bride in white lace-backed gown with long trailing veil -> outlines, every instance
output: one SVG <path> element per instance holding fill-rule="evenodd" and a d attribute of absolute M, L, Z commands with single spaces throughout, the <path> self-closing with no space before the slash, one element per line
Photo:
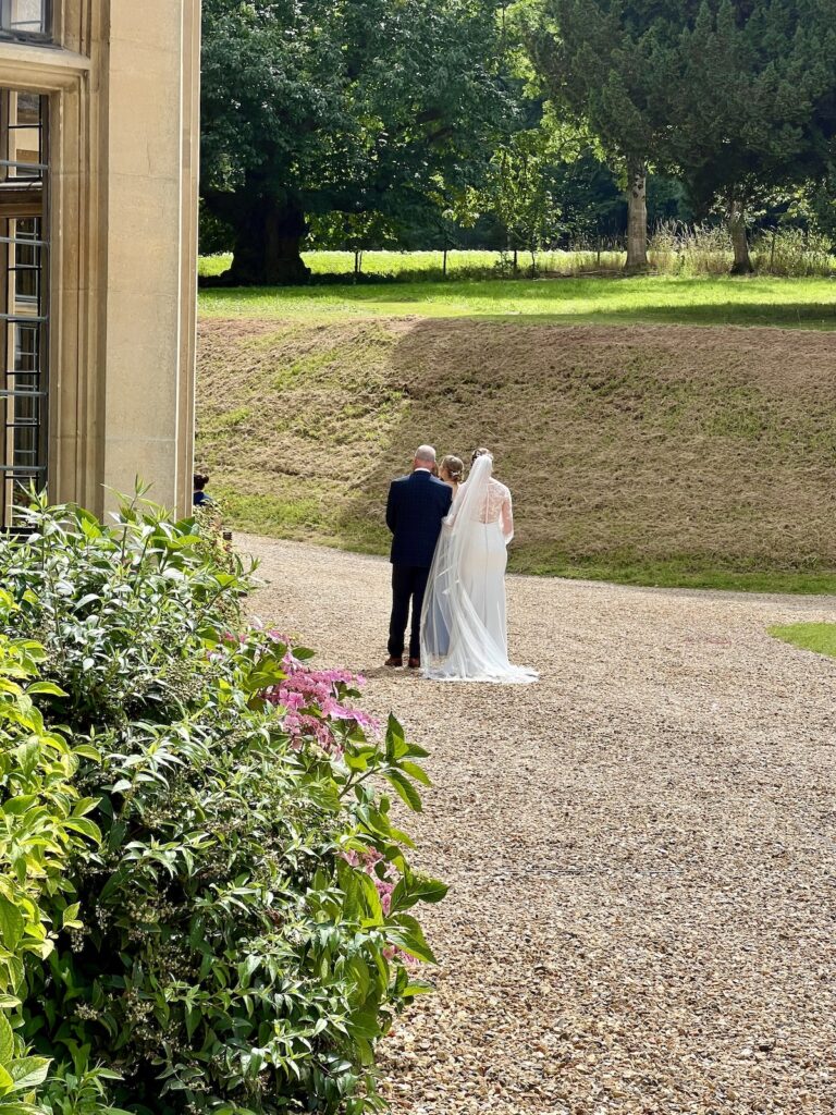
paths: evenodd
<path fill-rule="evenodd" d="M 421 614 L 424 676 L 436 681 L 536 681 L 508 662 L 505 619 L 506 546 L 514 536 L 511 492 L 494 479 L 487 449 L 441 526 Z"/>

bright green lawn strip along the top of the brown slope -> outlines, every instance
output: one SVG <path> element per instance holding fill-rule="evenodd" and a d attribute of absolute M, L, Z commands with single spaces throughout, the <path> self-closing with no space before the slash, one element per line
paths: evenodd
<path fill-rule="evenodd" d="M 836 328 L 836 280 L 582 277 L 206 289 L 203 318 L 294 322 L 495 318 L 584 324 Z"/>

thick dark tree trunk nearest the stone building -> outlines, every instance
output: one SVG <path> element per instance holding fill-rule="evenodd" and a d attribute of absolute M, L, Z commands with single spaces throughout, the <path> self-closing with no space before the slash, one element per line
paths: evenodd
<path fill-rule="evenodd" d="M 221 284 L 281 287 L 308 282 L 311 271 L 300 254 L 308 227 L 299 205 L 245 194 L 215 195 L 207 203 L 235 233 L 232 266 L 220 277 Z"/>

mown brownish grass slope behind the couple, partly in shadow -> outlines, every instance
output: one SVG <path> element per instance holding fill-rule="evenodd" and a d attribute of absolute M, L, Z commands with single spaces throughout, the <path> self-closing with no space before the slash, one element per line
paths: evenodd
<path fill-rule="evenodd" d="M 206 318 L 198 462 L 240 527 L 383 553 L 415 446 L 485 444 L 518 571 L 835 591 L 834 356 L 804 330 Z"/>

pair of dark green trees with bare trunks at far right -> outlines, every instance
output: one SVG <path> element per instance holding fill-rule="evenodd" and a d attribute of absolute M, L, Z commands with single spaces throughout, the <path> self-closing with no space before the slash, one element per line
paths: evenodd
<path fill-rule="evenodd" d="M 648 163 L 698 210 L 723 207 L 740 271 L 754 201 L 827 173 L 830 0 L 539 0 L 527 14 L 544 87 L 626 169 L 636 241 Z"/>

